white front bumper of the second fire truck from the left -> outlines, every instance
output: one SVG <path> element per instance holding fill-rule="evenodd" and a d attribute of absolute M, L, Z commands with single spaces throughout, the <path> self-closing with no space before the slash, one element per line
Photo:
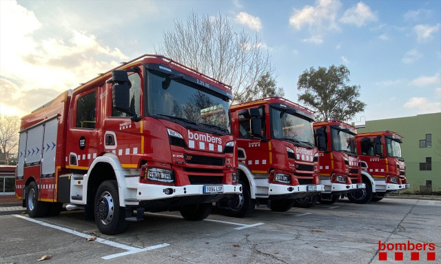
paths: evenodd
<path fill-rule="evenodd" d="M 282 185 L 269 183 L 268 199 L 295 199 L 307 196 L 314 196 L 323 192 L 323 185 Z"/>

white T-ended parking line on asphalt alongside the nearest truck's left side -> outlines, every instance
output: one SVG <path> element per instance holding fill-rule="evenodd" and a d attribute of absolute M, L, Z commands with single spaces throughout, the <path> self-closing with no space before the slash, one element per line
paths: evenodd
<path fill-rule="evenodd" d="M 45 223 L 43 221 L 39 221 L 39 220 L 36 220 L 36 219 L 30 219 L 29 217 L 21 216 L 19 214 L 14 214 L 14 216 L 19 217 L 19 218 L 24 219 L 24 220 L 27 220 L 27 221 L 38 223 L 39 225 L 44 225 L 46 227 L 52 227 L 54 229 L 61 230 L 63 232 L 68 232 L 70 234 L 74 234 L 75 236 L 81 236 L 83 238 L 90 238 L 91 237 L 88 234 L 83 234 L 81 232 L 78 232 L 78 231 L 75 231 L 75 230 L 71 230 L 71 229 L 66 228 L 66 227 L 61 227 L 61 226 L 58 226 L 58 225 L 52 225 L 50 223 Z M 99 237 L 96 238 L 95 241 L 98 242 L 98 243 L 103 243 L 105 245 L 110 245 L 112 247 L 121 248 L 121 250 L 127 250 L 127 252 L 122 252 L 122 253 L 118 253 L 118 254 L 112 254 L 112 255 L 109 255 L 109 256 L 101 257 L 103 259 L 117 258 L 119 256 L 126 256 L 126 255 L 129 255 L 129 254 L 135 254 L 135 253 L 145 252 L 145 251 L 149 251 L 149 250 L 156 250 L 156 248 L 167 247 L 168 245 L 170 245 L 170 244 L 167 244 L 167 243 L 163 243 L 163 244 L 159 244 L 159 245 L 153 245 L 151 247 L 138 248 L 138 247 L 130 247 L 130 245 L 123 245 L 123 244 L 120 244 L 120 243 L 116 243 L 114 241 L 108 241 L 108 240 L 105 240 L 105 239 L 99 238 Z"/>

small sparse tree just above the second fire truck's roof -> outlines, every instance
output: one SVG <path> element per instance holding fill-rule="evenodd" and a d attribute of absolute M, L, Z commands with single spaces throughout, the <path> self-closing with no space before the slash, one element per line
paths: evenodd
<path fill-rule="evenodd" d="M 257 84 L 254 87 L 247 88 L 242 99 L 242 97 L 238 97 L 236 101 L 250 101 L 256 100 L 265 97 L 283 97 L 285 96 L 285 92 L 283 88 L 278 88 L 276 84 L 276 80 L 271 77 L 269 72 L 260 76 L 257 81 Z"/>

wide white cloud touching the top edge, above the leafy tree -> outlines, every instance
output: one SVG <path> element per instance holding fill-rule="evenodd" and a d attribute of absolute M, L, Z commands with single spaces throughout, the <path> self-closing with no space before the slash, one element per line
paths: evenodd
<path fill-rule="evenodd" d="M 341 7 L 338 0 L 317 0 L 316 6 L 305 6 L 301 10 L 294 9 L 294 14 L 289 17 L 289 25 L 302 29 L 303 26 L 309 25 L 309 28 L 337 28 L 336 23 L 337 12 Z"/>

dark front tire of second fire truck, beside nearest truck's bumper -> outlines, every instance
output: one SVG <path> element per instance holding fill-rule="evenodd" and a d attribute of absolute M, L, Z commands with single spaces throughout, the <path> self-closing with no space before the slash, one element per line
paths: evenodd
<path fill-rule="evenodd" d="M 239 181 L 242 185 L 242 194 L 234 196 L 232 199 L 232 208 L 227 211 L 228 216 L 245 217 L 249 215 L 256 207 L 256 201 L 251 199 L 248 181 Z"/>

